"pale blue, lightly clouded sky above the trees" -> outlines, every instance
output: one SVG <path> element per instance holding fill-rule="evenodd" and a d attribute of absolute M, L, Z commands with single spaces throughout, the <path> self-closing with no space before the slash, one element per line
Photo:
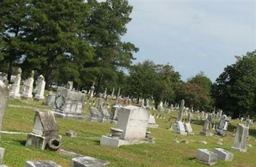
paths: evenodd
<path fill-rule="evenodd" d="M 204 71 L 214 82 L 236 62 L 235 55 L 256 50 L 256 0 L 129 0 L 129 4 L 132 20 L 122 40 L 140 48 L 134 63 L 169 62 L 182 80 Z"/>

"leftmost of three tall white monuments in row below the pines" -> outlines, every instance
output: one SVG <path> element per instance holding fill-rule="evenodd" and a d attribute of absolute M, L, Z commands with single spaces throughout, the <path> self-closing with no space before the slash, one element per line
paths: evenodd
<path fill-rule="evenodd" d="M 16 75 L 15 81 L 12 85 L 12 89 L 10 91 L 10 98 L 19 99 L 20 98 L 20 80 L 21 80 L 21 68 L 18 69 L 18 74 Z"/>

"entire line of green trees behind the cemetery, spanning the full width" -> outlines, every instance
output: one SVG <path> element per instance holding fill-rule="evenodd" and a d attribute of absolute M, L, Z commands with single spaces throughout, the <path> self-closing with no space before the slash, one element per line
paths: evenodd
<path fill-rule="evenodd" d="M 122 41 L 131 21 L 132 6 L 127 0 L 0 2 L 0 71 L 8 80 L 22 68 L 22 77 L 31 70 L 50 83 L 71 80 L 77 89 L 149 98 L 169 104 L 186 101 L 195 110 L 212 112 L 214 106 L 232 117 L 255 115 L 256 55 L 237 57 L 212 83 L 203 72 L 180 79 L 170 64 L 134 61 L 134 44 Z"/>

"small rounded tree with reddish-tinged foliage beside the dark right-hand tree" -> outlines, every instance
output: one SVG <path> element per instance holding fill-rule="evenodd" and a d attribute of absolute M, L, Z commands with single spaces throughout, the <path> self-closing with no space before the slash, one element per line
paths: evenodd
<path fill-rule="evenodd" d="M 189 107 L 209 111 L 212 109 L 211 87 L 211 80 L 200 72 L 179 85 L 177 99 L 184 99 Z"/>

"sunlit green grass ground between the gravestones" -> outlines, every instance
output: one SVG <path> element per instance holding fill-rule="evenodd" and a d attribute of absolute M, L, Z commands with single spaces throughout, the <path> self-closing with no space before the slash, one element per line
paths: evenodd
<path fill-rule="evenodd" d="M 84 115 L 87 114 L 88 107 L 89 104 L 87 103 L 84 107 Z M 39 101 L 10 99 L 4 112 L 2 131 L 31 132 L 36 108 L 42 111 L 51 109 Z M 170 113 L 170 115 L 172 115 L 174 122 L 177 112 Z M 216 147 L 234 153 L 234 160 L 232 162 L 218 161 L 214 166 L 256 166 L 256 128 L 254 125 L 250 126 L 250 138 L 247 141 L 247 144 L 251 144 L 252 147 L 248 147 L 247 152 L 239 152 L 230 148 L 234 143 L 234 136 L 231 134 L 238 120 L 230 121 L 231 125 L 228 127 L 227 137 L 200 136 L 203 122 L 197 120 L 191 124 L 195 136 L 182 136 L 170 131 L 170 122 L 167 122 L 170 115 L 167 116 L 166 114 L 165 119 L 156 119 L 157 124 L 159 124 L 157 129 L 148 128 L 156 143 L 126 145 L 119 149 L 99 145 L 100 137 L 110 133 L 109 128 L 115 127 L 115 124 L 84 120 L 56 120 L 62 136 L 62 149 L 109 161 L 108 166 L 206 166 L 196 161 L 196 149 L 214 150 Z M 194 118 L 196 118 L 196 114 Z M 77 138 L 65 136 L 64 134 L 68 130 L 76 131 Z M 189 143 L 174 143 L 172 141 L 175 136 L 178 137 L 179 141 L 188 140 Z M 0 147 L 5 149 L 4 164 L 7 166 L 24 166 L 25 161 L 28 160 L 51 160 L 61 166 L 70 166 L 72 157 L 50 150 L 26 148 L 24 146 L 26 138 L 26 134 L 1 134 Z M 223 139 L 223 145 L 217 144 L 220 138 Z M 202 140 L 205 140 L 207 144 L 200 143 Z"/>

